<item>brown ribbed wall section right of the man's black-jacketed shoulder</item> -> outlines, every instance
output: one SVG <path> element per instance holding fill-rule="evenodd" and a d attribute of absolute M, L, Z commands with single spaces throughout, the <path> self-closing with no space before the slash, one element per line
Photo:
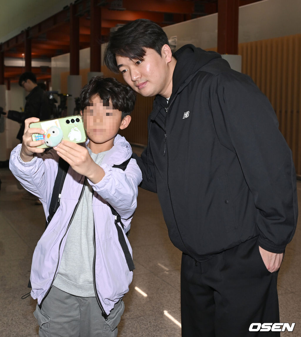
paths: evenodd
<path fill-rule="evenodd" d="M 301 34 L 240 43 L 242 72 L 270 100 L 301 175 Z"/>

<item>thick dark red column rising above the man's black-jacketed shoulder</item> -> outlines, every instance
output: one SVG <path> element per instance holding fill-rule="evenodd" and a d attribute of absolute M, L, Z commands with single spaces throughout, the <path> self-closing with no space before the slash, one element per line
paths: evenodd
<path fill-rule="evenodd" d="M 218 0 L 218 53 L 238 54 L 239 0 Z"/>

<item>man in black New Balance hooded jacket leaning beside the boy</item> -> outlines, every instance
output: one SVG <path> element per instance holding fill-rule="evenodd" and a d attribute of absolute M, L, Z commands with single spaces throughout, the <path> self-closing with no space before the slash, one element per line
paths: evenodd
<path fill-rule="evenodd" d="M 111 35 L 105 64 L 156 95 L 136 160 L 183 252 L 182 336 L 256 336 L 252 323 L 279 322 L 277 275 L 298 204 L 268 99 L 218 53 L 185 45 L 172 55 L 164 31 L 144 19 Z"/>

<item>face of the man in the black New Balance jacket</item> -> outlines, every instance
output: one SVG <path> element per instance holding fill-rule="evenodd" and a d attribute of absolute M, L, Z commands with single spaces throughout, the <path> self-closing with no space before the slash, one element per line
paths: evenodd
<path fill-rule="evenodd" d="M 142 96 L 170 97 L 172 75 L 168 68 L 168 58 L 162 47 L 162 56 L 154 49 L 145 48 L 145 56 L 142 61 L 129 59 L 125 56 L 116 55 L 116 62 L 123 74 L 126 83 Z M 170 93 L 169 93 L 170 91 Z"/>

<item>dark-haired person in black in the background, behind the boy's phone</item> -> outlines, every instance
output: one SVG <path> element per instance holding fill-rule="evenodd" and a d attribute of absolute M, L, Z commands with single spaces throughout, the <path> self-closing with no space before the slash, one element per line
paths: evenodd
<path fill-rule="evenodd" d="M 7 118 L 21 123 L 20 130 L 16 138 L 22 142 L 25 123 L 24 121 L 30 117 L 37 117 L 40 120 L 50 118 L 50 109 L 48 98 L 45 91 L 37 85 L 37 79 L 31 71 L 24 72 L 19 79 L 19 85 L 29 94 L 26 96 L 24 112 L 9 110 Z"/>

